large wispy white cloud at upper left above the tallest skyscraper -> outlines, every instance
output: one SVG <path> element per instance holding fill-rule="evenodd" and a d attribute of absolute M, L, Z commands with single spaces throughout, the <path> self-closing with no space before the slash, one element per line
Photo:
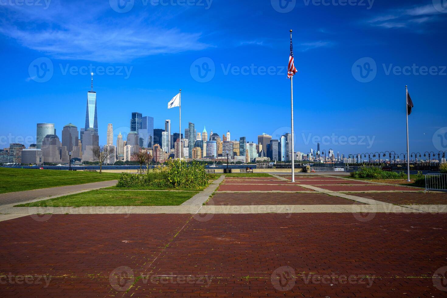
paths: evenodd
<path fill-rule="evenodd" d="M 4 10 L 0 34 L 56 59 L 120 63 L 210 46 L 200 41 L 201 32 L 165 28 L 135 14 L 107 18 L 101 15 L 107 12 L 103 7 L 84 10 L 56 3 L 46 10 L 25 6 Z"/>

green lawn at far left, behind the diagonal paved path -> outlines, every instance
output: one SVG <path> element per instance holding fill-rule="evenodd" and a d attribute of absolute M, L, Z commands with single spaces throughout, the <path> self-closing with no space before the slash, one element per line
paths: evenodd
<path fill-rule="evenodd" d="M 0 193 L 118 179 L 120 173 L 0 168 Z"/>

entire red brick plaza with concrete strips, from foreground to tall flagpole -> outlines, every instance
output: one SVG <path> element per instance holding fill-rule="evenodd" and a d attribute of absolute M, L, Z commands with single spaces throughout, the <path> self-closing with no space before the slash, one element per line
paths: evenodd
<path fill-rule="evenodd" d="M 178 206 L 191 210 L 183 214 L 53 210 L 5 220 L 0 294 L 447 296 L 447 214 L 439 211 L 446 193 L 332 175 L 297 177 L 295 184 L 287 179 L 225 178 L 205 206 Z M 222 214 L 211 208 L 244 205 L 316 209 Z M 354 206 L 370 209 L 330 211 Z M 432 206 L 438 211 L 418 210 Z M 4 208 L 20 213 L 25 207 Z"/>

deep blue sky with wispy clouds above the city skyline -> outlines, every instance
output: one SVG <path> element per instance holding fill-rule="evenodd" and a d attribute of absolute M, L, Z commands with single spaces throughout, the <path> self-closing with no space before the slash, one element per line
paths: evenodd
<path fill-rule="evenodd" d="M 447 150 L 440 1 L 33 1 L 0 5 L 0 147 L 34 142 L 38 122 L 59 137 L 69 122 L 84 127 L 91 70 L 101 144 L 108 123 L 116 138 L 135 111 L 177 132 L 166 106 L 179 88 L 182 130 L 277 137 L 291 126 L 293 29 L 295 151 L 404 152 L 405 85 L 410 150 Z"/>

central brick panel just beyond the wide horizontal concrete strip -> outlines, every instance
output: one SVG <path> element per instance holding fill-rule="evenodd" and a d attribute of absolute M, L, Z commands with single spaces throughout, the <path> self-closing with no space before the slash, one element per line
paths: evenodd
<path fill-rule="evenodd" d="M 216 193 L 207 205 L 351 205 L 362 204 L 325 193 Z"/>

